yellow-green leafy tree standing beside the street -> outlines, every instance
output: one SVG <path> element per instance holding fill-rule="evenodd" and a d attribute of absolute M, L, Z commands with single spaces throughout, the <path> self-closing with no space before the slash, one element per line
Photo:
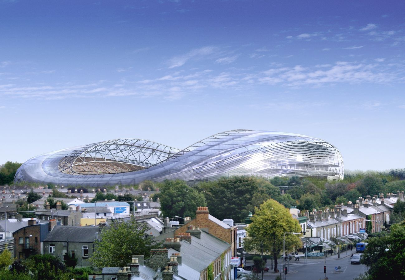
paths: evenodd
<path fill-rule="evenodd" d="M 278 272 L 277 259 L 283 249 L 284 233 L 301 232 L 301 227 L 287 208 L 269 199 L 256 209 L 246 231 L 248 237 L 245 239 L 245 248 L 260 251 L 263 246 L 265 252 L 273 255 L 274 271 Z M 294 234 L 286 234 L 285 241 L 286 252 L 294 246 L 302 245 L 300 238 Z"/>

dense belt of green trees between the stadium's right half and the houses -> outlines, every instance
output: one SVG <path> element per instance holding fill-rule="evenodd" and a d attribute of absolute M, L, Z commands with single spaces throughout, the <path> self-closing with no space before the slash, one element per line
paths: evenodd
<path fill-rule="evenodd" d="M 160 197 L 164 216 L 194 217 L 196 207 L 208 206 L 210 214 L 216 218 L 232 218 L 238 223 L 269 198 L 286 208 L 296 206 L 300 210 L 312 210 L 333 208 L 348 201 L 355 203 L 360 196 L 365 198 L 367 195 L 405 191 L 405 180 L 398 175 L 402 174 L 401 170 L 396 172 L 356 172 L 339 181 L 314 177 L 266 180 L 235 176 L 188 186 L 181 180 L 166 180 L 155 184 L 160 193 L 155 194 L 153 199 Z M 283 195 L 280 193 L 281 186 L 288 186 Z"/>

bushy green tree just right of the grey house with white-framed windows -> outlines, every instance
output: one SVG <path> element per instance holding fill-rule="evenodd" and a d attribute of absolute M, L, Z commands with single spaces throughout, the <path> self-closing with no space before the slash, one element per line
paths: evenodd
<path fill-rule="evenodd" d="M 128 222 L 113 221 L 96 240 L 90 262 L 95 267 L 124 267 L 132 255 L 149 257 L 149 251 L 160 244 L 145 234 L 148 230 L 147 224 L 137 223 L 133 216 Z"/>

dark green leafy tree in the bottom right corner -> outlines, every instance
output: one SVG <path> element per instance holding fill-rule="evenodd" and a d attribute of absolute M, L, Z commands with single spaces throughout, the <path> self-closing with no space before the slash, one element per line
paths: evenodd
<path fill-rule="evenodd" d="M 405 279 L 405 223 L 390 229 L 386 236 L 369 238 L 362 254 L 361 262 L 370 266 L 370 280 Z"/>

